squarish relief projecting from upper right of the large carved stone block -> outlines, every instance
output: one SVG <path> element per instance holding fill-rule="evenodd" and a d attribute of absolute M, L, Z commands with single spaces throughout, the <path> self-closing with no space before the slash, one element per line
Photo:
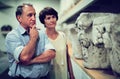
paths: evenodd
<path fill-rule="evenodd" d="M 93 21 L 92 41 L 94 45 L 103 45 L 104 48 L 111 48 L 110 27 L 113 27 L 113 17 L 102 16 Z"/>

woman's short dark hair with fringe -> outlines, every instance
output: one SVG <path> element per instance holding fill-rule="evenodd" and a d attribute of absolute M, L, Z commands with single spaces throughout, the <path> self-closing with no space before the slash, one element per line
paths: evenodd
<path fill-rule="evenodd" d="M 42 24 L 44 24 L 44 19 L 45 19 L 46 15 L 55 15 L 55 17 L 58 20 L 58 13 L 57 13 L 57 11 L 55 9 L 53 9 L 52 7 L 45 7 L 39 13 L 39 20 L 40 20 L 40 22 Z"/>

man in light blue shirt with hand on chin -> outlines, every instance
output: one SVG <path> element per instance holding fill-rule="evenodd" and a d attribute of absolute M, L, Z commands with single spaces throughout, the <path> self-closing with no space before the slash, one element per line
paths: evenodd
<path fill-rule="evenodd" d="M 31 4 L 17 7 L 19 26 L 8 33 L 6 49 L 11 79 L 47 79 L 55 49 L 42 30 L 37 30 L 35 9 Z"/>

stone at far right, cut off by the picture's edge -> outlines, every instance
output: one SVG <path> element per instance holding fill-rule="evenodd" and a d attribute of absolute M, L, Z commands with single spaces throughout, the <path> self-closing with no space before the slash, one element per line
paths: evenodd
<path fill-rule="evenodd" d="M 115 75 L 120 78 L 120 14 L 116 15 L 111 30 L 112 51 L 110 53 L 110 63 Z"/>

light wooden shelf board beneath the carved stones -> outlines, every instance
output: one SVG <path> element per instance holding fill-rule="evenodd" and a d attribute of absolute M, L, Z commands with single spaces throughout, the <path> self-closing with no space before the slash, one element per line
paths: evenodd
<path fill-rule="evenodd" d="M 83 66 L 83 60 L 74 58 L 72 53 L 72 48 L 70 49 L 69 55 L 80 66 L 80 68 L 83 69 L 91 77 L 91 79 L 116 79 L 116 77 L 113 74 L 111 74 L 111 71 L 109 72 L 102 69 L 96 70 L 96 69 L 85 68 Z"/>

